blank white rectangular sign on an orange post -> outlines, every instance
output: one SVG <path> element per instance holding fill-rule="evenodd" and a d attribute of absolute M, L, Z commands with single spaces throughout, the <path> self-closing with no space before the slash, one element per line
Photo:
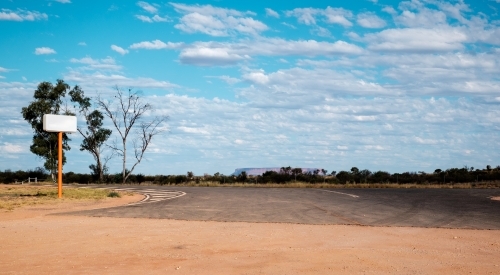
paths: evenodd
<path fill-rule="evenodd" d="M 57 197 L 62 198 L 62 133 L 76 132 L 76 116 L 43 115 L 43 130 L 58 133 Z"/>

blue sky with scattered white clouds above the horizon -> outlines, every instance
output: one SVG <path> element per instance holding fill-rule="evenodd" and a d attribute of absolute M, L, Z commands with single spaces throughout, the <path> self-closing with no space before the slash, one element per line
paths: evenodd
<path fill-rule="evenodd" d="M 42 166 L 20 111 L 56 79 L 89 96 L 133 88 L 155 108 L 146 119 L 170 117 L 137 173 L 500 165 L 499 10 L 500 0 L 3 0 L 0 169 Z M 73 134 L 65 171 L 89 171 L 80 142 Z M 109 165 L 119 172 L 118 158 Z"/>

